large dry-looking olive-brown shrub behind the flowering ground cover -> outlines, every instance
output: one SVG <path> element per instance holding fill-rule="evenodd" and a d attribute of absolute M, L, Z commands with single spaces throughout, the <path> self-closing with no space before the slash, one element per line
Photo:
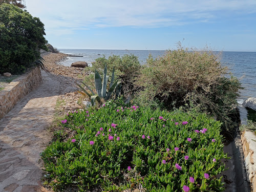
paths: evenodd
<path fill-rule="evenodd" d="M 143 90 L 136 98 L 141 105 L 158 100 L 168 110 L 188 106 L 223 122 L 223 131 L 236 127 L 231 116 L 236 113 L 241 83 L 226 75 L 227 68 L 214 52 L 189 51 L 180 46 L 160 58 L 150 56 L 141 73 L 137 85 Z"/>

